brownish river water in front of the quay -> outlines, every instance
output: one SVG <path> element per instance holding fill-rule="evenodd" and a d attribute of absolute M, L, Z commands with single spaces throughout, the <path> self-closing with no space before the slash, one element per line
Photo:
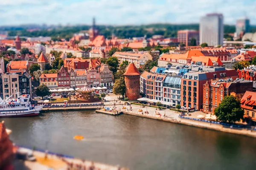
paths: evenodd
<path fill-rule="evenodd" d="M 16 144 L 131 170 L 255 170 L 256 139 L 131 115 L 51 112 L 1 118 Z M 84 140 L 76 141 L 76 135 Z"/>

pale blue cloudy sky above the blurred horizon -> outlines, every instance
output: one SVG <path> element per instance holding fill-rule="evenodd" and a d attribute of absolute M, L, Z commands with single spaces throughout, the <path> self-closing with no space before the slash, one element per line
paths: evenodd
<path fill-rule="evenodd" d="M 198 23 L 206 13 L 256 25 L 256 0 L 0 0 L 0 25 Z"/>

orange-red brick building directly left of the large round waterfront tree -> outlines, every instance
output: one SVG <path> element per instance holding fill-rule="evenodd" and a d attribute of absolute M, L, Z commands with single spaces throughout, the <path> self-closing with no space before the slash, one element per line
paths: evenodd
<path fill-rule="evenodd" d="M 253 91 L 253 82 L 249 80 L 217 79 L 207 81 L 203 88 L 203 111 L 214 113 L 215 108 L 221 103 L 225 96 L 230 93 L 241 98 L 246 91 Z"/>

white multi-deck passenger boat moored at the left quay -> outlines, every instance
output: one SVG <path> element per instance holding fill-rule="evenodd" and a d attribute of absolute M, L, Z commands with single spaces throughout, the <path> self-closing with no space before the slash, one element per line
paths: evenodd
<path fill-rule="evenodd" d="M 20 95 L 17 89 L 15 91 L 17 99 L 12 99 L 12 96 L 6 99 L 0 97 L 0 117 L 37 116 L 44 105 L 31 105 L 29 94 Z"/>

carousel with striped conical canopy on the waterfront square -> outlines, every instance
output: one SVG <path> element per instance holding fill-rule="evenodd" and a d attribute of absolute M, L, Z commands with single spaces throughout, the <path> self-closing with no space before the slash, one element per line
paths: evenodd
<path fill-rule="evenodd" d="M 99 98 L 93 96 L 93 88 L 88 87 L 87 82 L 85 82 L 84 87 L 76 91 L 77 100 L 83 102 L 98 102 Z"/>

